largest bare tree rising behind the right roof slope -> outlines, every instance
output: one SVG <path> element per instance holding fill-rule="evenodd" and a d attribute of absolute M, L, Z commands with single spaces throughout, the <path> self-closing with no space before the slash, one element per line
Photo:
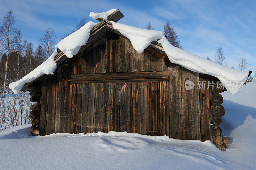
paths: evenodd
<path fill-rule="evenodd" d="M 173 26 L 169 22 L 166 22 L 164 24 L 164 35 L 173 46 L 176 46 L 180 49 L 183 48 L 180 45 L 180 40 L 177 33 L 174 31 Z"/>

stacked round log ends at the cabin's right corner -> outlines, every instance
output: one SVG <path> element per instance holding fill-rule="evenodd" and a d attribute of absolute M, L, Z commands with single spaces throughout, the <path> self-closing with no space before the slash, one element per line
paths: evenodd
<path fill-rule="evenodd" d="M 221 92 L 225 89 L 219 88 L 220 81 L 216 78 L 212 79 L 214 83 L 212 87 L 212 96 L 211 96 L 211 113 L 212 113 L 212 124 L 210 125 L 210 134 L 212 136 L 212 142 L 221 150 L 226 151 L 226 144 L 230 144 L 229 137 L 221 137 L 222 130 L 220 129 L 221 117 L 225 114 L 225 109 L 221 105 L 223 103 L 223 97 Z"/>

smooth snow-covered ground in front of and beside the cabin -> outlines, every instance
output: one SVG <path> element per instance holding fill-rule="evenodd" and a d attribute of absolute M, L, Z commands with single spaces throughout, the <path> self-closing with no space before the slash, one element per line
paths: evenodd
<path fill-rule="evenodd" d="M 1 169 L 256 169 L 256 82 L 222 93 L 227 151 L 210 141 L 126 132 L 32 137 L 30 126 L 0 131 Z"/>

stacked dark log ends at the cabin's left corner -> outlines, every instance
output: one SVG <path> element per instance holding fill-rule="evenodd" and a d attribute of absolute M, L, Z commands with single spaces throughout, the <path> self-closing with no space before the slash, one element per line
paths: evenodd
<path fill-rule="evenodd" d="M 41 96 L 41 87 L 36 86 L 30 88 L 29 95 L 31 102 L 36 102 L 30 106 L 30 121 L 32 126 L 30 127 L 30 133 L 32 136 L 39 135 L 39 117 L 40 117 L 40 110 L 41 110 L 41 103 L 40 103 L 40 96 Z"/>

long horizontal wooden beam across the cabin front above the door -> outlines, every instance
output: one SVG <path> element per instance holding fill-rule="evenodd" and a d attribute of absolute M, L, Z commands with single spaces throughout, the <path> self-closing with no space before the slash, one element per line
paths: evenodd
<path fill-rule="evenodd" d="M 124 72 L 104 74 L 72 74 L 70 83 L 82 82 L 132 82 L 132 81 L 162 81 L 169 77 L 168 71 L 154 72 Z"/>

